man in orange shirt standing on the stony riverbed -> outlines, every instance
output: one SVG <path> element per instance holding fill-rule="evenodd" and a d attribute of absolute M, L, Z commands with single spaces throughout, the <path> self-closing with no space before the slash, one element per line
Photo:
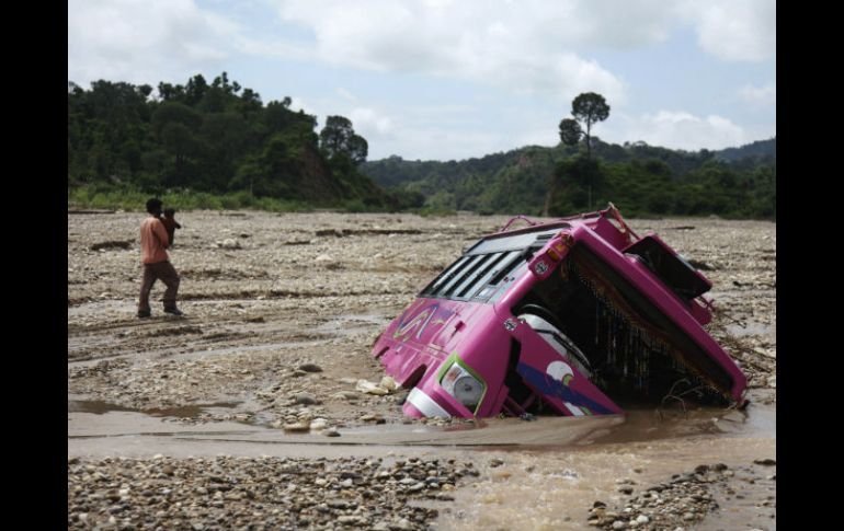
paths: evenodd
<path fill-rule="evenodd" d="M 182 315 L 175 307 L 175 293 L 179 291 L 179 274 L 170 263 L 166 249 L 170 246 L 161 217 L 161 200 L 147 201 L 149 217 L 140 223 L 140 261 L 144 263 L 144 279 L 140 282 L 140 302 L 138 302 L 138 318 L 151 315 L 149 309 L 149 292 L 156 280 L 161 279 L 167 286 L 164 291 L 164 313 Z"/>

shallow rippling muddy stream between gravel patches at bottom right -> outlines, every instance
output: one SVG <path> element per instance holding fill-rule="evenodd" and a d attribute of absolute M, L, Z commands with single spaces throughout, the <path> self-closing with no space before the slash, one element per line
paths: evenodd
<path fill-rule="evenodd" d="M 455 509 L 442 516 L 438 529 L 583 529 L 594 501 L 623 506 L 625 497 L 617 492 L 616 483 L 619 478 L 647 487 L 702 463 L 722 462 L 735 467 L 751 463 L 759 453 L 776 451 L 771 439 L 744 438 L 737 442 L 696 438 L 682 443 L 649 441 L 509 452 L 501 458 L 503 465 L 487 469 L 479 482 L 457 492 Z M 773 481 L 768 483 L 767 487 L 775 488 Z M 759 496 L 765 494 L 769 493 Z M 745 528 L 759 518 L 749 515 L 756 509 L 753 501 L 746 497 L 739 504 L 721 499 L 717 527 L 700 524 L 696 529 Z M 704 524 L 709 522 L 705 520 Z"/>

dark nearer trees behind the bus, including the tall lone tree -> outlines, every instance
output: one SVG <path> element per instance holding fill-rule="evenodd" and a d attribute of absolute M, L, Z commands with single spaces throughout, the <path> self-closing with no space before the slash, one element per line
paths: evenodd
<path fill-rule="evenodd" d="M 710 160 L 708 152 L 702 153 L 698 166 L 677 174 L 658 158 L 621 164 L 592 158 L 592 126 L 609 117 L 609 105 L 601 94 L 578 95 L 572 101 L 571 115 L 573 118 L 560 122 L 560 141 L 566 146 L 585 145 L 585 157 L 578 153 L 556 165 L 545 215 L 584 207 L 591 210 L 595 203 L 612 200 L 619 206 L 630 205 L 632 213 L 776 219 L 776 165 L 756 158 L 764 157 L 764 148 L 759 146 L 763 142 L 746 147 L 745 158 L 737 149 L 725 150 L 721 161 L 731 163 Z M 593 203 L 593 193 L 602 199 Z"/>

